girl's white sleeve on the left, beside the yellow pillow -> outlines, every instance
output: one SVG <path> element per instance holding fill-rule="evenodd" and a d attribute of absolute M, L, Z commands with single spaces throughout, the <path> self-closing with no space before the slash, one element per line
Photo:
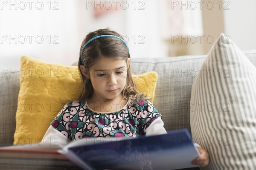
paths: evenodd
<path fill-rule="evenodd" d="M 42 142 L 49 144 L 51 146 L 59 146 L 63 148 L 70 141 L 64 134 L 62 134 L 60 131 L 58 131 L 52 125 L 50 125 L 42 139 Z"/>

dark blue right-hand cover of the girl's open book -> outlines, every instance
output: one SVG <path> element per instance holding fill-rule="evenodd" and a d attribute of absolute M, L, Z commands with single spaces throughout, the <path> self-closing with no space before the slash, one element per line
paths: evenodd
<path fill-rule="evenodd" d="M 81 139 L 61 150 L 83 169 L 172 170 L 197 167 L 200 156 L 187 129 L 137 138 Z"/>

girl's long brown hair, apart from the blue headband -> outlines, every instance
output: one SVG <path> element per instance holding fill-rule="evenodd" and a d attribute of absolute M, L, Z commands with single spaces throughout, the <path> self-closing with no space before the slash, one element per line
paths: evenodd
<path fill-rule="evenodd" d="M 79 69 L 79 74 L 80 74 L 81 82 L 83 86 L 82 86 L 81 95 L 79 96 L 79 99 L 77 99 L 79 100 L 79 102 L 86 101 L 90 99 L 93 95 L 93 86 L 90 82 L 90 79 L 88 79 L 87 77 L 84 76 L 84 74 L 82 74 L 80 65 L 83 65 L 86 68 L 86 71 L 89 71 L 91 66 L 98 59 L 100 59 L 100 57 L 107 57 L 111 59 L 124 59 L 125 62 L 127 62 L 128 58 L 130 58 L 129 51 L 127 50 L 127 47 L 124 42 L 114 37 L 102 37 L 102 38 L 95 39 L 86 45 L 86 47 L 84 48 L 84 51 L 82 52 L 83 62 L 81 62 L 80 56 L 81 56 L 81 50 L 84 44 L 88 40 L 92 39 L 93 37 L 96 37 L 99 35 L 106 35 L 106 34 L 114 35 L 122 38 L 122 36 L 117 32 L 111 31 L 109 28 L 105 28 L 105 29 L 99 29 L 99 30 L 90 32 L 89 34 L 87 34 L 87 36 L 84 38 L 81 44 L 78 69 Z M 139 93 L 139 91 L 136 88 L 134 79 L 131 74 L 131 67 L 127 69 L 126 85 L 122 91 L 122 94 L 124 96 L 124 99 L 126 100 L 128 100 L 128 97 L 130 95 L 137 96 L 137 99 L 139 99 L 144 95 L 143 93 Z"/>

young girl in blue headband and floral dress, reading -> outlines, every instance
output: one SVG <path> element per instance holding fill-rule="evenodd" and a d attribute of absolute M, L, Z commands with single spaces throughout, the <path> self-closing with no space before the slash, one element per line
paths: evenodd
<path fill-rule="evenodd" d="M 90 32 L 80 48 L 78 63 L 82 93 L 67 102 L 51 122 L 44 139 L 58 137 L 58 144 L 86 137 L 141 136 L 166 133 L 162 116 L 134 83 L 130 54 L 121 35 L 109 28 Z M 192 164 L 205 166 L 201 153 Z"/>

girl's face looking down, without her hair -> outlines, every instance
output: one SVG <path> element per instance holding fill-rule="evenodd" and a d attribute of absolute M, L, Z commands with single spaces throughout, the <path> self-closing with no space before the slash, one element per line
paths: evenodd
<path fill-rule="evenodd" d="M 125 62 L 123 59 L 116 60 L 101 57 L 90 68 L 89 75 L 85 75 L 90 77 L 93 85 L 92 99 L 98 102 L 108 102 L 122 97 L 129 65 L 130 59 Z"/>

